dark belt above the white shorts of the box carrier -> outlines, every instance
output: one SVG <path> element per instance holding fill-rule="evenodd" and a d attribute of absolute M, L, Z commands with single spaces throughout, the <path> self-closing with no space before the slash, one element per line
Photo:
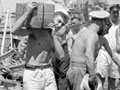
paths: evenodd
<path fill-rule="evenodd" d="M 47 69 L 47 68 L 50 68 L 51 65 L 50 64 L 47 64 L 47 65 L 39 65 L 39 66 L 36 66 L 36 65 L 30 65 L 30 64 L 25 64 L 25 68 L 26 69 Z"/>

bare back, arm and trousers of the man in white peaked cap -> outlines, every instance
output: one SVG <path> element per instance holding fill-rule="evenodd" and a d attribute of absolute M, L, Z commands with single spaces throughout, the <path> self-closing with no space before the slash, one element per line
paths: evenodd
<path fill-rule="evenodd" d="M 99 27 L 97 25 L 90 25 L 86 30 L 79 33 L 74 42 L 70 57 L 70 69 L 68 70 L 68 81 L 76 88 L 74 90 L 80 90 L 81 81 L 86 71 L 90 74 L 89 81 L 94 82 L 95 51 L 97 50 L 96 46 L 99 40 L 97 35 L 98 30 Z"/>

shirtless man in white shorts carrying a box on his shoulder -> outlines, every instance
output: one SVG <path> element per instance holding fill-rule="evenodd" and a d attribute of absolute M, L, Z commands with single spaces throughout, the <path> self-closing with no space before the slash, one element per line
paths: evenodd
<path fill-rule="evenodd" d="M 57 48 L 54 47 L 55 43 L 53 43 L 57 40 L 56 36 L 52 37 L 51 29 L 48 28 L 22 27 L 24 22 L 35 10 L 35 7 L 36 5 L 34 3 L 28 5 L 26 12 L 15 23 L 12 29 L 12 33 L 15 35 L 28 35 L 23 75 L 24 90 L 57 90 L 54 74 L 49 64 L 53 55 L 53 49 Z M 60 51 L 56 50 L 56 52 Z"/>

